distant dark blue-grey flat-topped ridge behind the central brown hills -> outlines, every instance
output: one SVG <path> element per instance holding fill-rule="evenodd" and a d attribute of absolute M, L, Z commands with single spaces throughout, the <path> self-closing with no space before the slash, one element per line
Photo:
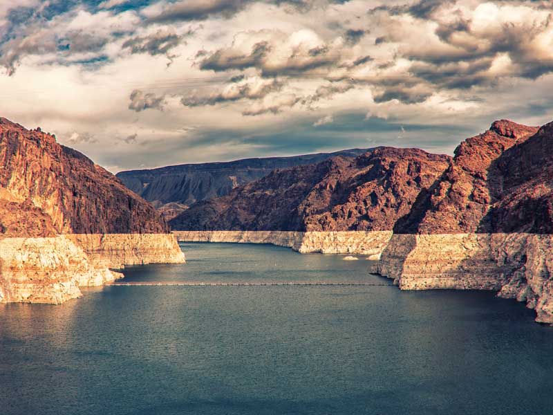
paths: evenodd
<path fill-rule="evenodd" d="M 153 203 L 169 220 L 197 201 L 225 196 L 234 187 L 256 181 L 274 169 L 319 163 L 333 156 L 357 156 L 364 151 L 366 149 L 349 149 L 303 156 L 176 165 L 120 172 L 117 176 L 129 189 Z"/>

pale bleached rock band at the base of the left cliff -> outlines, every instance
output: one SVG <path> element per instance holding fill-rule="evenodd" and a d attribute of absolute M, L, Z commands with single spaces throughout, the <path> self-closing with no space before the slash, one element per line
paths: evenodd
<path fill-rule="evenodd" d="M 79 287 L 122 278 L 114 269 L 135 264 L 180 264 L 171 234 L 66 234 L 0 239 L 0 302 L 62 304 Z"/>

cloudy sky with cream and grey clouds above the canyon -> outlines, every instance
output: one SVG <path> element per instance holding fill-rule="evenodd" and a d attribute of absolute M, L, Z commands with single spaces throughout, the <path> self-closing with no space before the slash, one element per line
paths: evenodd
<path fill-rule="evenodd" d="M 1 0 L 0 116 L 111 172 L 553 120 L 551 1 Z"/>

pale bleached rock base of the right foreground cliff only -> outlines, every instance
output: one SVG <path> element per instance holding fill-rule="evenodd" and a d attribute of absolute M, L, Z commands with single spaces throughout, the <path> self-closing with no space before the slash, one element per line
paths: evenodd
<path fill-rule="evenodd" d="M 553 323 L 553 235 L 395 234 L 377 273 L 403 290 L 493 290 Z"/>

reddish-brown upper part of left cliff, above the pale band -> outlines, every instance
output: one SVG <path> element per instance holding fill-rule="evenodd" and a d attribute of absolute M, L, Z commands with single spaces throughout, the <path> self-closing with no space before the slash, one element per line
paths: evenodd
<path fill-rule="evenodd" d="M 163 233 L 153 207 L 54 136 L 0 118 L 0 232 Z"/>

